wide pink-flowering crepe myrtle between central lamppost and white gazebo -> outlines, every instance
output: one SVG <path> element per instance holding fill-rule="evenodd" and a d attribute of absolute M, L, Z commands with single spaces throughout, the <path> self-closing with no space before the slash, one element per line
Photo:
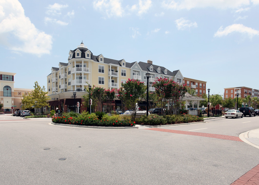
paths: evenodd
<path fill-rule="evenodd" d="M 179 114 L 182 98 L 187 92 L 185 85 L 179 85 L 177 82 L 168 78 L 156 78 L 153 83 L 155 87 L 155 93 L 158 97 L 158 102 L 162 108 L 162 114 L 166 114 L 166 104 L 169 106 L 169 114 Z"/>

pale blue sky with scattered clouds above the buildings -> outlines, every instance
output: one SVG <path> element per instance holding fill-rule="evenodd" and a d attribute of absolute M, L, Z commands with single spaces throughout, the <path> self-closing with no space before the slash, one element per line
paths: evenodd
<path fill-rule="evenodd" d="M 1 70 L 16 88 L 46 76 L 83 40 L 94 55 L 153 60 L 211 93 L 259 89 L 259 0 L 0 0 Z M 243 77 L 243 75 L 249 75 Z"/>

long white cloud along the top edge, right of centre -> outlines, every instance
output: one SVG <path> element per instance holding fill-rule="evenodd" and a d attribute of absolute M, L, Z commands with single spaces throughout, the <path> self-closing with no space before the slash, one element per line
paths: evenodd
<path fill-rule="evenodd" d="M 255 0 L 254 0 L 255 1 Z M 259 0 L 256 0 L 259 1 Z M 193 8 L 206 8 L 214 7 L 218 9 L 239 8 L 242 5 L 249 5 L 250 0 L 165 0 L 162 6 L 167 9 L 193 9 Z"/>

